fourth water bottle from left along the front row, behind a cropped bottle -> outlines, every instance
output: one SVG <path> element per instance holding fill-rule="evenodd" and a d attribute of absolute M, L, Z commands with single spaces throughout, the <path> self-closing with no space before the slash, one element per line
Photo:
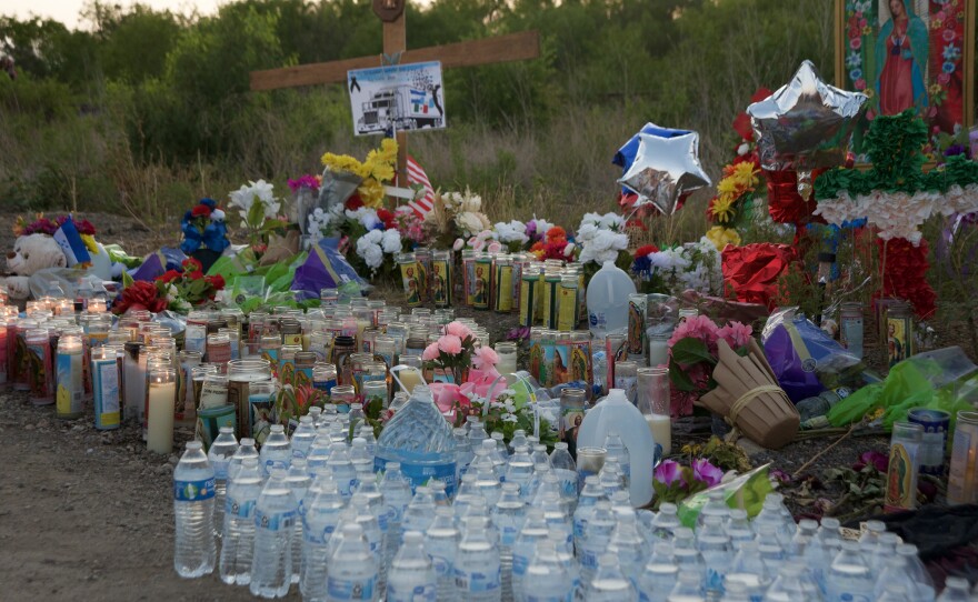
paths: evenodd
<path fill-rule="evenodd" d="M 329 543 L 347 505 L 330 474 L 317 479 L 319 493 L 306 510 L 299 590 L 306 602 L 326 600 Z"/>

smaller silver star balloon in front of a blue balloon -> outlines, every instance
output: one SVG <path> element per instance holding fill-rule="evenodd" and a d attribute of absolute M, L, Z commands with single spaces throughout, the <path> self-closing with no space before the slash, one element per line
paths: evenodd
<path fill-rule="evenodd" d="M 661 138 L 640 133 L 635 161 L 618 182 L 638 194 L 636 207 L 651 203 L 671 215 L 682 194 L 710 185 L 699 163 L 699 134 Z"/>

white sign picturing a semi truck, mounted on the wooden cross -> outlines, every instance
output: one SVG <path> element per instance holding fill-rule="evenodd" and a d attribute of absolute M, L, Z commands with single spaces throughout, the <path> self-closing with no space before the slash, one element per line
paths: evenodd
<path fill-rule="evenodd" d="M 357 136 L 445 129 L 440 61 L 350 70 L 347 89 Z"/>

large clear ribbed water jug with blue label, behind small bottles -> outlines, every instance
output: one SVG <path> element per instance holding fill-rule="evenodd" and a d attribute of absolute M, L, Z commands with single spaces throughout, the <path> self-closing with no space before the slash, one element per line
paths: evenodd
<path fill-rule="evenodd" d="M 400 462 L 411 491 L 438 479 L 445 483 L 449 498 L 455 494 L 455 439 L 427 385 L 415 387 L 411 399 L 380 433 L 375 471 L 382 471 L 387 462 Z"/>

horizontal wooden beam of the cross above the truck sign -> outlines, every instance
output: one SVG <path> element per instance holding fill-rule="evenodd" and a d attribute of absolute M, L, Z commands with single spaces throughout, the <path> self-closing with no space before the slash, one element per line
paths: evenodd
<path fill-rule="evenodd" d="M 408 50 L 401 54 L 400 63 L 441 61 L 441 67 L 448 69 L 536 59 L 539 56 L 540 33 L 538 31 L 522 31 L 482 40 Z M 379 56 L 372 56 L 252 71 L 251 90 L 277 90 L 279 88 L 337 83 L 347 80 L 347 71 L 380 67 L 379 62 Z"/>

